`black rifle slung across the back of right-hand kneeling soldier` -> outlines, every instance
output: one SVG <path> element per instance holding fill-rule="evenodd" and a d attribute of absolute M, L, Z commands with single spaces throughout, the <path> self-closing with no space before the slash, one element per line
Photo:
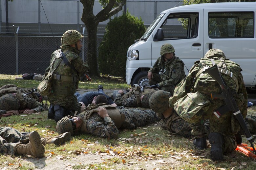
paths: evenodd
<path fill-rule="evenodd" d="M 250 131 L 248 130 L 248 128 L 245 124 L 245 120 L 241 114 L 241 111 L 239 110 L 239 108 L 236 104 L 236 101 L 232 95 L 232 92 L 230 91 L 229 87 L 224 83 L 223 78 L 219 72 L 217 65 L 215 64 L 214 66 L 205 69 L 205 72 L 208 73 L 210 76 L 212 76 L 212 78 L 214 78 L 217 81 L 217 83 L 221 86 L 221 89 L 222 89 L 222 93 L 221 93 L 222 98 L 221 99 L 223 99 L 225 101 L 225 103 L 226 103 L 225 106 L 229 109 L 229 111 L 233 111 L 233 115 L 236 117 L 240 126 L 244 130 L 246 139 L 250 142 L 251 147 L 253 148 L 253 150 L 256 154 L 256 150 L 254 148 L 254 145 L 252 144 L 254 142 L 255 137 L 253 138 L 252 135 L 250 134 Z M 212 94 L 211 94 L 211 97 L 213 99 Z"/>

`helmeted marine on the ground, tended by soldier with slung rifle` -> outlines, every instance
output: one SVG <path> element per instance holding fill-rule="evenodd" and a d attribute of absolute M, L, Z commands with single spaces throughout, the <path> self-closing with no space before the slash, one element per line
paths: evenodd
<path fill-rule="evenodd" d="M 157 117 L 161 119 L 161 127 L 169 130 L 174 135 L 180 135 L 185 138 L 190 137 L 191 128 L 188 122 L 183 120 L 176 111 L 169 107 L 170 92 L 163 90 L 156 91 L 149 98 L 150 108 L 156 112 Z M 204 123 L 204 129 L 209 134 L 209 121 Z M 204 134 L 198 133 L 197 137 L 202 137 Z"/>

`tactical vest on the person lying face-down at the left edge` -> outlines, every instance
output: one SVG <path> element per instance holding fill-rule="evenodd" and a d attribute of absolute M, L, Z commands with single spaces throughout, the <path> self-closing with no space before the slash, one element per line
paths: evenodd
<path fill-rule="evenodd" d="M 4 85 L 4 86 L 0 87 L 0 96 L 5 95 L 5 94 L 10 94 L 10 93 L 26 94 L 26 93 L 29 93 L 29 92 L 31 92 L 31 90 L 29 90 L 29 89 L 22 90 L 14 84 L 7 84 L 7 85 Z M 27 97 L 38 101 L 38 97 L 35 93 L 30 93 L 30 94 L 27 95 Z"/>

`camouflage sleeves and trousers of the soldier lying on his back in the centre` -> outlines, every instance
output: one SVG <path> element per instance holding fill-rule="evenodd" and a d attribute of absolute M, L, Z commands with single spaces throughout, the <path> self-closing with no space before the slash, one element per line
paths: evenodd
<path fill-rule="evenodd" d="M 120 128 L 134 129 L 144 126 L 147 123 L 151 123 L 159 120 L 156 117 L 155 112 L 152 110 L 139 110 L 139 109 L 125 109 L 123 107 L 117 108 L 120 114 L 125 116 L 125 121 Z M 84 118 L 84 115 L 81 115 Z M 84 120 L 86 122 L 86 120 Z M 86 126 L 86 127 L 84 127 Z M 87 129 L 91 134 L 105 138 L 116 138 L 118 135 L 118 129 L 110 117 L 101 118 L 97 112 L 92 113 L 88 118 L 86 125 L 82 124 L 82 127 L 77 133 L 86 133 L 82 129 Z"/>

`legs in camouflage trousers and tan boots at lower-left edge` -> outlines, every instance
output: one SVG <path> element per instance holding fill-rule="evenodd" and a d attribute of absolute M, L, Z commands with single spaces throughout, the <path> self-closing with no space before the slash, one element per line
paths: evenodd
<path fill-rule="evenodd" d="M 70 132 L 54 137 L 41 138 L 37 131 L 23 135 L 11 127 L 0 127 L 0 152 L 10 155 L 31 155 L 42 158 L 45 144 L 64 144 L 71 139 Z"/>

